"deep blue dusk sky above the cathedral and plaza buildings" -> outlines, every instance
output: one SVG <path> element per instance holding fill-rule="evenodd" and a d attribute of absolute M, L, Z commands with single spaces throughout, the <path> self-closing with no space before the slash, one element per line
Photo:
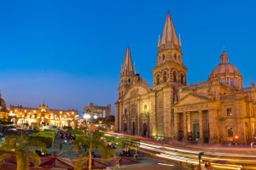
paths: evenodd
<path fill-rule="evenodd" d="M 225 46 L 244 87 L 256 81 L 256 1 L 23 0 L 0 2 L 0 90 L 7 105 L 78 109 L 117 100 L 125 48 L 152 85 L 170 10 L 188 82 L 207 81 Z M 112 107 L 114 108 L 114 107 Z M 112 111 L 114 112 L 114 111 Z"/>

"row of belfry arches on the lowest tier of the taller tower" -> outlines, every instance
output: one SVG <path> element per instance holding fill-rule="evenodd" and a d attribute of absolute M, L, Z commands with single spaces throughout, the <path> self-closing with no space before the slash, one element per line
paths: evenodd
<path fill-rule="evenodd" d="M 154 84 L 159 85 L 160 83 L 165 82 L 181 82 L 182 84 L 186 84 L 186 75 L 183 72 L 172 71 L 171 73 L 167 73 L 167 71 L 162 71 L 162 73 L 157 73 L 154 76 Z"/>

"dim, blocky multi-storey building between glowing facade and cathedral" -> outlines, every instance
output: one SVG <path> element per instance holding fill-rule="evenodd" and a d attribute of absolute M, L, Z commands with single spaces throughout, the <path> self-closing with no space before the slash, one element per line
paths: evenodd
<path fill-rule="evenodd" d="M 111 105 L 99 106 L 90 103 L 88 106 L 84 106 L 84 113 L 90 114 L 90 116 L 105 118 L 111 115 Z"/>

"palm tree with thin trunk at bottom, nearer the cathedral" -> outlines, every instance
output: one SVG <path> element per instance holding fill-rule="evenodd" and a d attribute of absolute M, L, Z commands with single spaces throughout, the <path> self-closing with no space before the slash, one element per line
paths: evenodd
<path fill-rule="evenodd" d="M 76 170 L 83 169 L 83 165 L 87 161 L 89 161 L 88 169 L 91 170 L 92 150 L 95 148 L 99 149 L 102 156 L 102 161 L 108 161 L 110 156 L 115 157 L 114 151 L 104 144 L 104 141 L 102 140 L 103 136 L 104 136 L 104 133 L 96 130 L 94 132 L 85 134 L 84 138 L 75 140 L 74 150 L 78 150 L 80 146 L 82 146 L 83 148 L 88 148 L 88 154 L 84 152 L 79 155 L 79 158 L 75 163 Z"/>

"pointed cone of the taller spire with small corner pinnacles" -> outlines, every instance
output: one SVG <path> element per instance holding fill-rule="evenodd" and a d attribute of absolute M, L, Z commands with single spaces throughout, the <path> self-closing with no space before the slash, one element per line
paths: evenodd
<path fill-rule="evenodd" d="M 166 15 L 166 22 L 162 37 L 159 37 L 158 48 L 181 48 L 181 38 L 179 36 L 177 39 L 175 27 L 170 13 Z"/>

